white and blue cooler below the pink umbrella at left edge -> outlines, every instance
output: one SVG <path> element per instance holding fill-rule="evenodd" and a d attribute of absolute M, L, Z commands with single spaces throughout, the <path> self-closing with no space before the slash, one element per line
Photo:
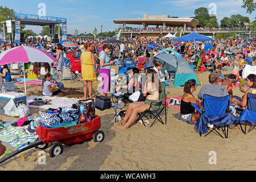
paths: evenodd
<path fill-rule="evenodd" d="M 24 93 L 6 92 L 0 94 L 0 115 L 5 115 L 3 107 L 11 100 L 14 100 L 16 107 L 22 104 L 27 105 L 27 96 Z"/>

